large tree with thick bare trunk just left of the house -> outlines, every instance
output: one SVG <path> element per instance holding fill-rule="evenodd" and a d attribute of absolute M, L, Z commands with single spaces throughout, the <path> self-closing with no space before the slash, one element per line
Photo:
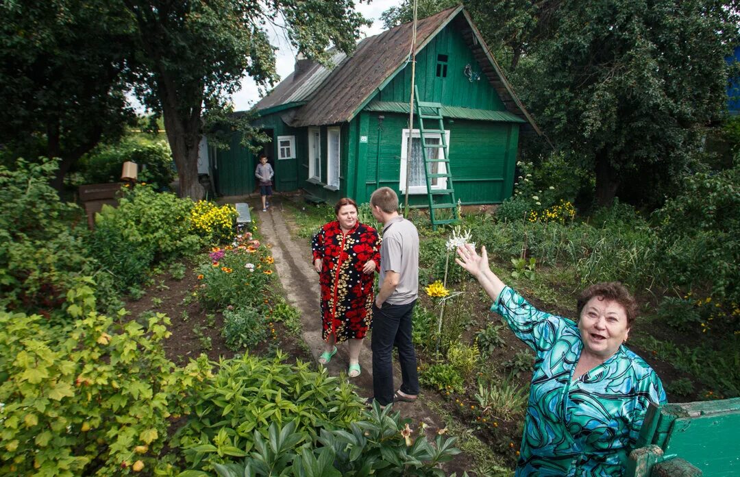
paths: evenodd
<path fill-rule="evenodd" d="M 203 117 L 223 113 L 244 75 L 265 88 L 277 81 L 268 28 L 309 58 L 328 60 L 327 47 L 349 52 L 366 23 L 351 0 L 122 1 L 136 26 L 136 93 L 164 117 L 180 194 L 192 199 L 203 196 Z"/>

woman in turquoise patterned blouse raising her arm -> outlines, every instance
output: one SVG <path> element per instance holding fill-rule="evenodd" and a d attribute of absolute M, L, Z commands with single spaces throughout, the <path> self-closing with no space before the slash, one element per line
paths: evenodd
<path fill-rule="evenodd" d="M 619 283 L 578 299 L 579 321 L 537 310 L 491 272 L 485 247 L 456 259 L 536 353 L 517 476 L 621 476 L 650 401 L 665 403 L 655 371 L 628 350 L 636 301 Z"/>

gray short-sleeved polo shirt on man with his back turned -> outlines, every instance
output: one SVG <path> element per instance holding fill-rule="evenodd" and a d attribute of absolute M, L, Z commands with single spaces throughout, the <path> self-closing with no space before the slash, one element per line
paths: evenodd
<path fill-rule="evenodd" d="M 419 233 L 411 221 L 397 216 L 383 227 L 380 246 L 380 287 L 386 272 L 398 273 L 396 290 L 388 297 L 388 304 L 408 304 L 419 296 Z"/>

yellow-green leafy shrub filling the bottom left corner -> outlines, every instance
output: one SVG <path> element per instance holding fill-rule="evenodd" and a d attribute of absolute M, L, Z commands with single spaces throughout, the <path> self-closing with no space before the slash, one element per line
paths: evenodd
<path fill-rule="evenodd" d="M 118 475 L 135 461 L 153 467 L 169 416 L 182 412 L 179 396 L 206 376 L 165 358 L 164 315 L 146 327 L 116 324 L 94 304 L 90 290 L 74 290 L 67 313 L 77 320 L 63 333 L 38 315 L 0 313 L 0 473 Z"/>

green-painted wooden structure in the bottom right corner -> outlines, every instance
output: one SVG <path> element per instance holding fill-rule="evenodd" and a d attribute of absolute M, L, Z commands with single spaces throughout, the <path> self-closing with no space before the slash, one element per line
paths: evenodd
<path fill-rule="evenodd" d="M 740 398 L 650 404 L 628 477 L 740 476 Z"/>

